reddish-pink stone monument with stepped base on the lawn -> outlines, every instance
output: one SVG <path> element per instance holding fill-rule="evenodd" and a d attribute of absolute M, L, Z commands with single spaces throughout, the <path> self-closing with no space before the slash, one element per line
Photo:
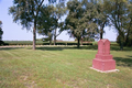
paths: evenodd
<path fill-rule="evenodd" d="M 110 55 L 110 42 L 109 40 L 100 40 L 98 42 L 98 53 L 92 61 L 92 68 L 100 72 L 108 72 L 116 69 L 116 61 Z"/>

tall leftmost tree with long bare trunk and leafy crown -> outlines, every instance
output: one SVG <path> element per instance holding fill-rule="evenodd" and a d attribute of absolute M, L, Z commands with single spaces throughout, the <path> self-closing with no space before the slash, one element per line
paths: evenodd
<path fill-rule="evenodd" d="M 55 2 L 56 0 L 48 1 Z M 33 50 L 35 50 L 36 26 L 43 4 L 44 0 L 13 0 L 13 7 L 9 8 L 14 22 L 21 23 L 28 30 L 33 26 Z"/>

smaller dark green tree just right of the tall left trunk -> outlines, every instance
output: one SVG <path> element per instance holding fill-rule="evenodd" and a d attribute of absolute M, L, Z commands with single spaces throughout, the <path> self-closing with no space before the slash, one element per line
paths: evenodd
<path fill-rule="evenodd" d="M 50 41 L 50 44 L 52 44 L 53 30 L 56 26 L 56 20 L 54 19 L 54 16 L 51 16 L 54 7 L 43 6 L 42 8 L 42 13 L 38 16 L 40 21 L 37 22 L 37 32 L 38 34 L 47 36 L 46 41 Z"/>

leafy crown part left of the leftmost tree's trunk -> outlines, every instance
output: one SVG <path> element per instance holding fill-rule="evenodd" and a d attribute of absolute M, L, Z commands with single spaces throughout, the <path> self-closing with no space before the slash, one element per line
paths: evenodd
<path fill-rule="evenodd" d="M 14 0 L 13 7 L 9 8 L 9 14 L 12 14 L 14 22 L 19 22 L 23 28 L 30 30 L 37 8 L 35 8 L 35 1 Z"/>

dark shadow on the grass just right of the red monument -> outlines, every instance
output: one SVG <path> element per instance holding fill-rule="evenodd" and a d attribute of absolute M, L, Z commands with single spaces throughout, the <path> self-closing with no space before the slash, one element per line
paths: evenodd
<path fill-rule="evenodd" d="M 130 58 L 130 57 L 128 57 L 128 58 L 113 57 L 113 59 L 116 59 L 117 66 L 132 67 L 132 58 Z"/>

